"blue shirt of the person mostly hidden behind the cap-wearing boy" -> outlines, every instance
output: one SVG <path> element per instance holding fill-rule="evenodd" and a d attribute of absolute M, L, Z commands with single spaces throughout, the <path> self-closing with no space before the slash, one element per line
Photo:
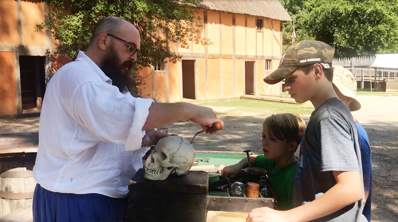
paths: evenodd
<path fill-rule="evenodd" d="M 370 152 L 370 144 L 368 134 L 365 129 L 355 121 L 358 130 L 359 146 L 361 148 L 361 159 L 362 159 L 362 173 L 364 177 L 364 190 L 369 191 L 368 199 L 366 200 L 364 211 L 362 214 L 370 222 L 370 212 L 372 206 L 372 156 Z"/>

